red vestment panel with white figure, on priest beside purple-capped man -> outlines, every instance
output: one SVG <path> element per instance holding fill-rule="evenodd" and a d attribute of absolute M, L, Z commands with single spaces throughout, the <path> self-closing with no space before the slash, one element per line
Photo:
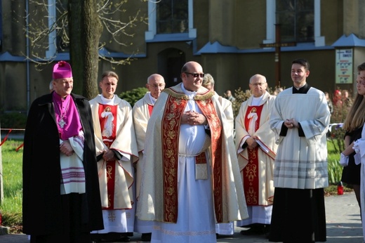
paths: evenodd
<path fill-rule="evenodd" d="M 99 104 L 99 120 L 102 132 L 102 141 L 109 148 L 117 137 L 117 112 L 118 105 Z M 102 209 L 114 209 L 114 181 L 116 161 L 107 162 L 107 195 L 108 207 Z"/>

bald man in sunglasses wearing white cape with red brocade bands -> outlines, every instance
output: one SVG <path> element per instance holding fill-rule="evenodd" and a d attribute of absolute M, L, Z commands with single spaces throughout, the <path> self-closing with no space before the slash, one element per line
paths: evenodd
<path fill-rule="evenodd" d="M 247 218 L 232 130 L 199 63 L 165 88 L 148 121 L 138 218 L 151 242 L 216 242 L 215 223 Z"/>

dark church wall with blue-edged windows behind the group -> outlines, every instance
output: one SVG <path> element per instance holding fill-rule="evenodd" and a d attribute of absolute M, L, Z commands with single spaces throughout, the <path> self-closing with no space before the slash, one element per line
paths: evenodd
<path fill-rule="evenodd" d="M 48 16 L 58 13 L 62 0 L 48 2 Z M 67 44 L 50 34 L 37 51 L 48 65 L 32 60 L 34 39 L 27 22 L 44 21 L 29 1 L 0 0 L 0 107 L 27 111 L 32 101 L 48 92 L 51 70 L 58 60 L 69 61 Z M 215 79 L 220 95 L 248 89 L 253 74 L 263 74 L 271 88 L 289 87 L 291 61 L 310 62 L 311 86 L 333 93 L 336 88 L 356 92 L 356 68 L 365 62 L 365 5 L 361 0 L 162 0 L 128 1 L 123 20 L 144 16 L 121 37 L 122 46 L 104 29 L 100 55 L 115 60 L 132 58 L 128 65 L 113 65 L 100 58 L 99 75 L 113 69 L 119 74 L 116 93 L 145 86 L 152 73 L 164 76 L 166 86 L 180 82 L 187 61 L 199 62 Z M 58 6 L 60 4 L 60 6 Z M 52 39 L 53 38 L 53 39 Z M 57 41 L 54 41 L 57 40 Z M 95 48 L 98 48 L 95 46 Z M 29 57 L 29 58 L 27 58 Z M 34 57 L 33 57 L 34 58 Z M 77 82 L 77 80 L 75 80 Z M 95 80 L 98 82 L 98 80 Z M 234 92 L 233 92 L 234 93 Z"/>

